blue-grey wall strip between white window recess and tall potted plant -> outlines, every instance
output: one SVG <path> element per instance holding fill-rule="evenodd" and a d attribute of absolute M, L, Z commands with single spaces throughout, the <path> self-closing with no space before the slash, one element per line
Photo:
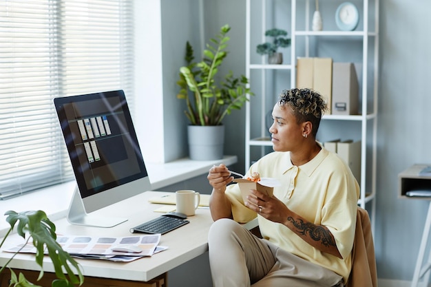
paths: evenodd
<path fill-rule="evenodd" d="M 165 157 L 174 160 L 188 155 L 185 100 L 176 98 L 180 67 L 185 65 L 185 47 L 189 41 L 200 55 L 200 0 L 162 1 L 162 52 L 165 113 Z"/>

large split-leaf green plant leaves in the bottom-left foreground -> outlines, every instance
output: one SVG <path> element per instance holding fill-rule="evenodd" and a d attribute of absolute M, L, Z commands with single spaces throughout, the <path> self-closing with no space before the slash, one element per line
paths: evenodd
<path fill-rule="evenodd" d="M 10 224 L 10 229 L 3 237 L 3 241 L 0 243 L 0 248 L 3 246 L 8 235 L 10 235 L 17 225 L 17 233 L 25 239 L 25 244 L 21 249 L 28 244 L 30 239 L 32 239 L 32 244 L 36 248 L 36 264 L 41 266 L 41 272 L 39 273 L 39 279 L 43 277 L 43 257 L 45 253 L 52 260 L 54 265 L 55 274 L 58 279 L 52 281 L 52 287 L 71 287 L 77 284 L 83 284 L 84 277 L 81 273 L 78 263 L 70 256 L 69 253 L 63 251 L 63 248 L 56 242 L 56 227 L 52 223 L 45 212 L 43 211 L 25 211 L 22 213 L 17 213 L 15 211 L 7 211 L 5 213 L 6 221 Z M 26 236 L 28 235 L 28 236 Z M 19 251 L 21 251 L 21 249 Z M 15 255 L 19 253 L 17 251 L 14 255 L 6 262 L 6 264 L 0 268 L 0 273 L 8 268 L 8 264 L 12 262 Z M 17 276 L 14 271 L 9 268 L 11 273 L 10 286 L 37 286 L 31 284 L 22 273 Z M 65 275 L 64 271 L 67 273 Z M 75 275 L 74 271 L 77 275 Z M 38 279 L 38 280 L 39 280 Z"/>

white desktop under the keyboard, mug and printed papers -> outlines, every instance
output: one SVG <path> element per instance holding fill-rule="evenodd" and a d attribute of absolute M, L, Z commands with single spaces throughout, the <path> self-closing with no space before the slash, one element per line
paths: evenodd
<path fill-rule="evenodd" d="M 129 220 L 112 228 L 96 228 L 87 226 L 71 225 L 65 219 L 56 220 L 56 230 L 64 235 L 106 235 L 106 236 L 134 236 L 129 233 L 129 228 L 141 224 L 162 213 L 154 212 L 154 209 L 161 204 L 150 204 L 148 199 L 157 195 L 163 195 L 162 191 L 147 191 L 136 195 L 133 198 L 123 200 L 101 211 L 96 211 L 98 215 L 109 215 L 127 217 Z M 92 277 L 103 277 L 113 279 L 127 279 L 134 281 L 149 281 L 162 273 L 165 273 L 180 264 L 183 264 L 194 257 L 198 257 L 208 251 L 207 235 L 213 220 L 209 209 L 197 209 L 196 215 L 189 216 L 189 224 L 174 231 L 162 235 L 160 245 L 168 246 L 166 251 L 156 253 L 152 257 L 143 257 L 134 262 L 107 262 L 98 259 L 77 259 L 83 268 L 83 275 Z M 11 239 L 14 242 L 11 242 Z M 22 240 L 17 234 L 6 240 L 5 245 L 14 246 L 17 240 Z M 9 245 L 8 245 L 9 244 Z M 0 266 L 5 264 L 13 253 L 0 252 Z M 53 272 L 54 268 L 48 256 L 44 259 L 44 270 Z M 10 263 L 11 268 L 21 268 L 26 270 L 39 270 L 39 266 L 34 262 L 34 255 L 19 254 Z"/>

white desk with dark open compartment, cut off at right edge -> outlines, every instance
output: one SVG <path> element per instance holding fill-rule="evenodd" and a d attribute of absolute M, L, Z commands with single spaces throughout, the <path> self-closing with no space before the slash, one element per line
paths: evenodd
<path fill-rule="evenodd" d="M 427 164 L 414 164 L 412 167 L 399 173 L 399 190 L 398 195 L 400 198 L 414 199 L 413 197 L 407 197 L 406 192 L 414 190 L 430 190 L 431 191 L 431 176 L 419 176 L 419 172 L 427 167 Z M 431 198 L 415 198 L 421 200 L 428 200 L 428 214 L 425 220 L 425 226 L 423 226 L 423 234 L 421 240 L 421 246 L 419 247 L 419 254 L 417 256 L 416 266 L 414 267 L 412 287 L 419 286 L 419 279 L 423 277 L 423 286 L 428 286 L 431 273 L 431 251 L 428 255 L 428 262 L 423 264 L 423 258 L 425 257 L 425 249 L 428 244 L 428 237 L 430 235 L 431 227 Z"/>

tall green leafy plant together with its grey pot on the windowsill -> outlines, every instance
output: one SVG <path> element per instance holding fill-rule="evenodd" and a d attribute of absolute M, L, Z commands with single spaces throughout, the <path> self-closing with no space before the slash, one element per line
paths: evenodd
<path fill-rule="evenodd" d="M 220 28 L 215 39 L 207 43 L 207 49 L 204 50 L 200 62 L 193 61 L 193 47 L 189 41 L 186 43 L 187 66 L 180 67 L 177 84 L 181 89 L 177 98 L 185 100 L 187 105 L 185 115 L 190 122 L 188 139 L 189 155 L 192 160 L 222 158 L 224 142 L 222 120 L 231 114 L 233 109 L 241 109 L 248 100 L 248 95 L 253 95 L 246 76 L 235 77 L 230 71 L 223 78 L 218 77 L 219 67 L 228 54 L 226 49 L 229 30 L 231 30 L 229 25 Z M 204 134 L 207 132 L 204 130 L 208 129 L 215 130 L 218 134 Z M 198 142 L 194 141 L 195 137 Z M 211 149 L 206 149 L 206 145 Z"/>

